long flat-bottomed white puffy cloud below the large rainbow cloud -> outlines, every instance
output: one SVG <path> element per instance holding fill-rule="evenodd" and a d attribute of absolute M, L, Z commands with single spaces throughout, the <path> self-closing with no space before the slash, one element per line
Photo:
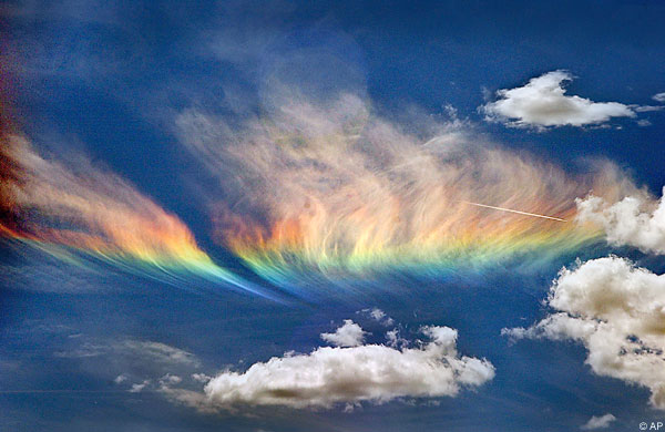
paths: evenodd
<path fill-rule="evenodd" d="M 205 385 L 206 405 L 330 408 L 402 397 L 453 397 L 462 387 L 478 387 L 494 377 L 489 361 L 458 354 L 456 330 L 424 327 L 421 332 L 430 341 L 419 348 L 320 347 L 308 354 L 274 357 L 244 373 L 222 372 Z M 202 398 L 195 394 L 175 398 L 201 408 Z"/>

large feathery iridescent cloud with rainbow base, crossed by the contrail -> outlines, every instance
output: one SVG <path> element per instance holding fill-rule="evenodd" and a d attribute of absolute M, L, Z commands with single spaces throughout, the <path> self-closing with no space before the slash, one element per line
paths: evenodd
<path fill-rule="evenodd" d="M 216 238 L 276 282 L 304 271 L 446 271 L 575 254 L 601 235 L 572 222 L 575 198 L 593 191 L 614 202 L 634 191 L 608 163 L 571 175 L 482 142 L 464 122 L 399 125 L 350 94 L 285 101 L 241 126 L 194 110 L 177 122 L 219 179 Z"/>

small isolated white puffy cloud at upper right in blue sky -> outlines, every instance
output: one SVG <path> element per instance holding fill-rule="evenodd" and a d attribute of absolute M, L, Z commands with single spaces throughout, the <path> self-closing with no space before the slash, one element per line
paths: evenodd
<path fill-rule="evenodd" d="M 562 83 L 573 76 L 553 71 L 531 79 L 524 86 L 497 92 L 498 100 L 480 107 L 489 121 L 509 126 L 545 128 L 601 124 L 611 117 L 634 117 L 635 112 L 618 102 L 593 102 L 569 96 Z"/>

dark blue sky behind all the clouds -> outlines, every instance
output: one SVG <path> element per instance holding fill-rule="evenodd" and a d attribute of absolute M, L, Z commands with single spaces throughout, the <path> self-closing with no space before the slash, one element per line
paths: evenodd
<path fill-rule="evenodd" d="M 1 10 L 9 48 L 2 56 L 17 83 L 23 131 L 53 151 L 84 150 L 131 179 L 177 214 L 221 260 L 233 258 L 209 239 L 204 203 L 192 189 L 192 178 L 204 175 L 176 144 L 174 113 L 192 106 L 225 113 L 229 107 L 222 101 L 228 100 L 241 111 L 259 110 L 266 76 L 283 73 L 280 61 L 303 50 L 327 62 L 340 59 L 341 66 L 321 71 L 298 63 L 293 79 L 305 88 L 366 92 L 387 116 L 399 116 L 409 105 L 446 115 L 452 105 L 505 146 L 564 166 L 603 156 L 654 193 L 665 184 L 663 113 L 642 115 L 652 123 L 647 127 L 617 120 L 612 124 L 621 130 L 539 133 L 484 123 L 477 111 L 485 102 L 483 89 L 511 89 L 557 69 L 577 76 L 571 94 L 654 104 L 652 95 L 665 91 L 665 3 L 659 1 L 10 1 Z M 3 253 L 3 259 L 21 259 L 12 254 Z M 620 418 L 616 430 L 636 430 L 637 422 L 658 418 L 646 408 L 646 390 L 593 376 L 580 346 L 510 346 L 499 336 L 503 327 L 543 317 L 550 280 L 572 258 L 529 280 L 501 268 L 480 281 L 401 275 L 392 281 L 395 290 L 370 298 L 288 307 L 241 295 L 187 294 L 127 276 L 83 278 L 94 289 L 74 294 L 17 288 L 8 277 L 0 300 L 0 429 L 570 431 L 591 415 L 612 412 Z M 38 285 L 24 285 L 30 284 Z M 416 288 L 400 297 L 397 286 Z M 366 307 L 379 307 L 412 329 L 457 328 L 460 351 L 490 359 L 497 378 L 439 405 L 205 415 L 160 394 L 132 394 L 113 384 L 127 370 L 149 374 L 147 363 L 57 354 L 152 340 L 193 352 L 201 370 L 213 373 L 241 360 L 249 364 L 291 349 L 307 352 L 330 321 L 339 323 Z"/>

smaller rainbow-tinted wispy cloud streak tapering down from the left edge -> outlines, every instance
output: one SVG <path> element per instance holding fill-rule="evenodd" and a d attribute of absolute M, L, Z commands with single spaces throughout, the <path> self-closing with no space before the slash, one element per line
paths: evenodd
<path fill-rule="evenodd" d="M 190 229 L 119 176 L 80 158 L 65 165 L 7 134 L 0 151 L 0 233 L 61 258 L 84 254 L 171 279 L 191 272 L 255 288 L 217 266 Z"/>

